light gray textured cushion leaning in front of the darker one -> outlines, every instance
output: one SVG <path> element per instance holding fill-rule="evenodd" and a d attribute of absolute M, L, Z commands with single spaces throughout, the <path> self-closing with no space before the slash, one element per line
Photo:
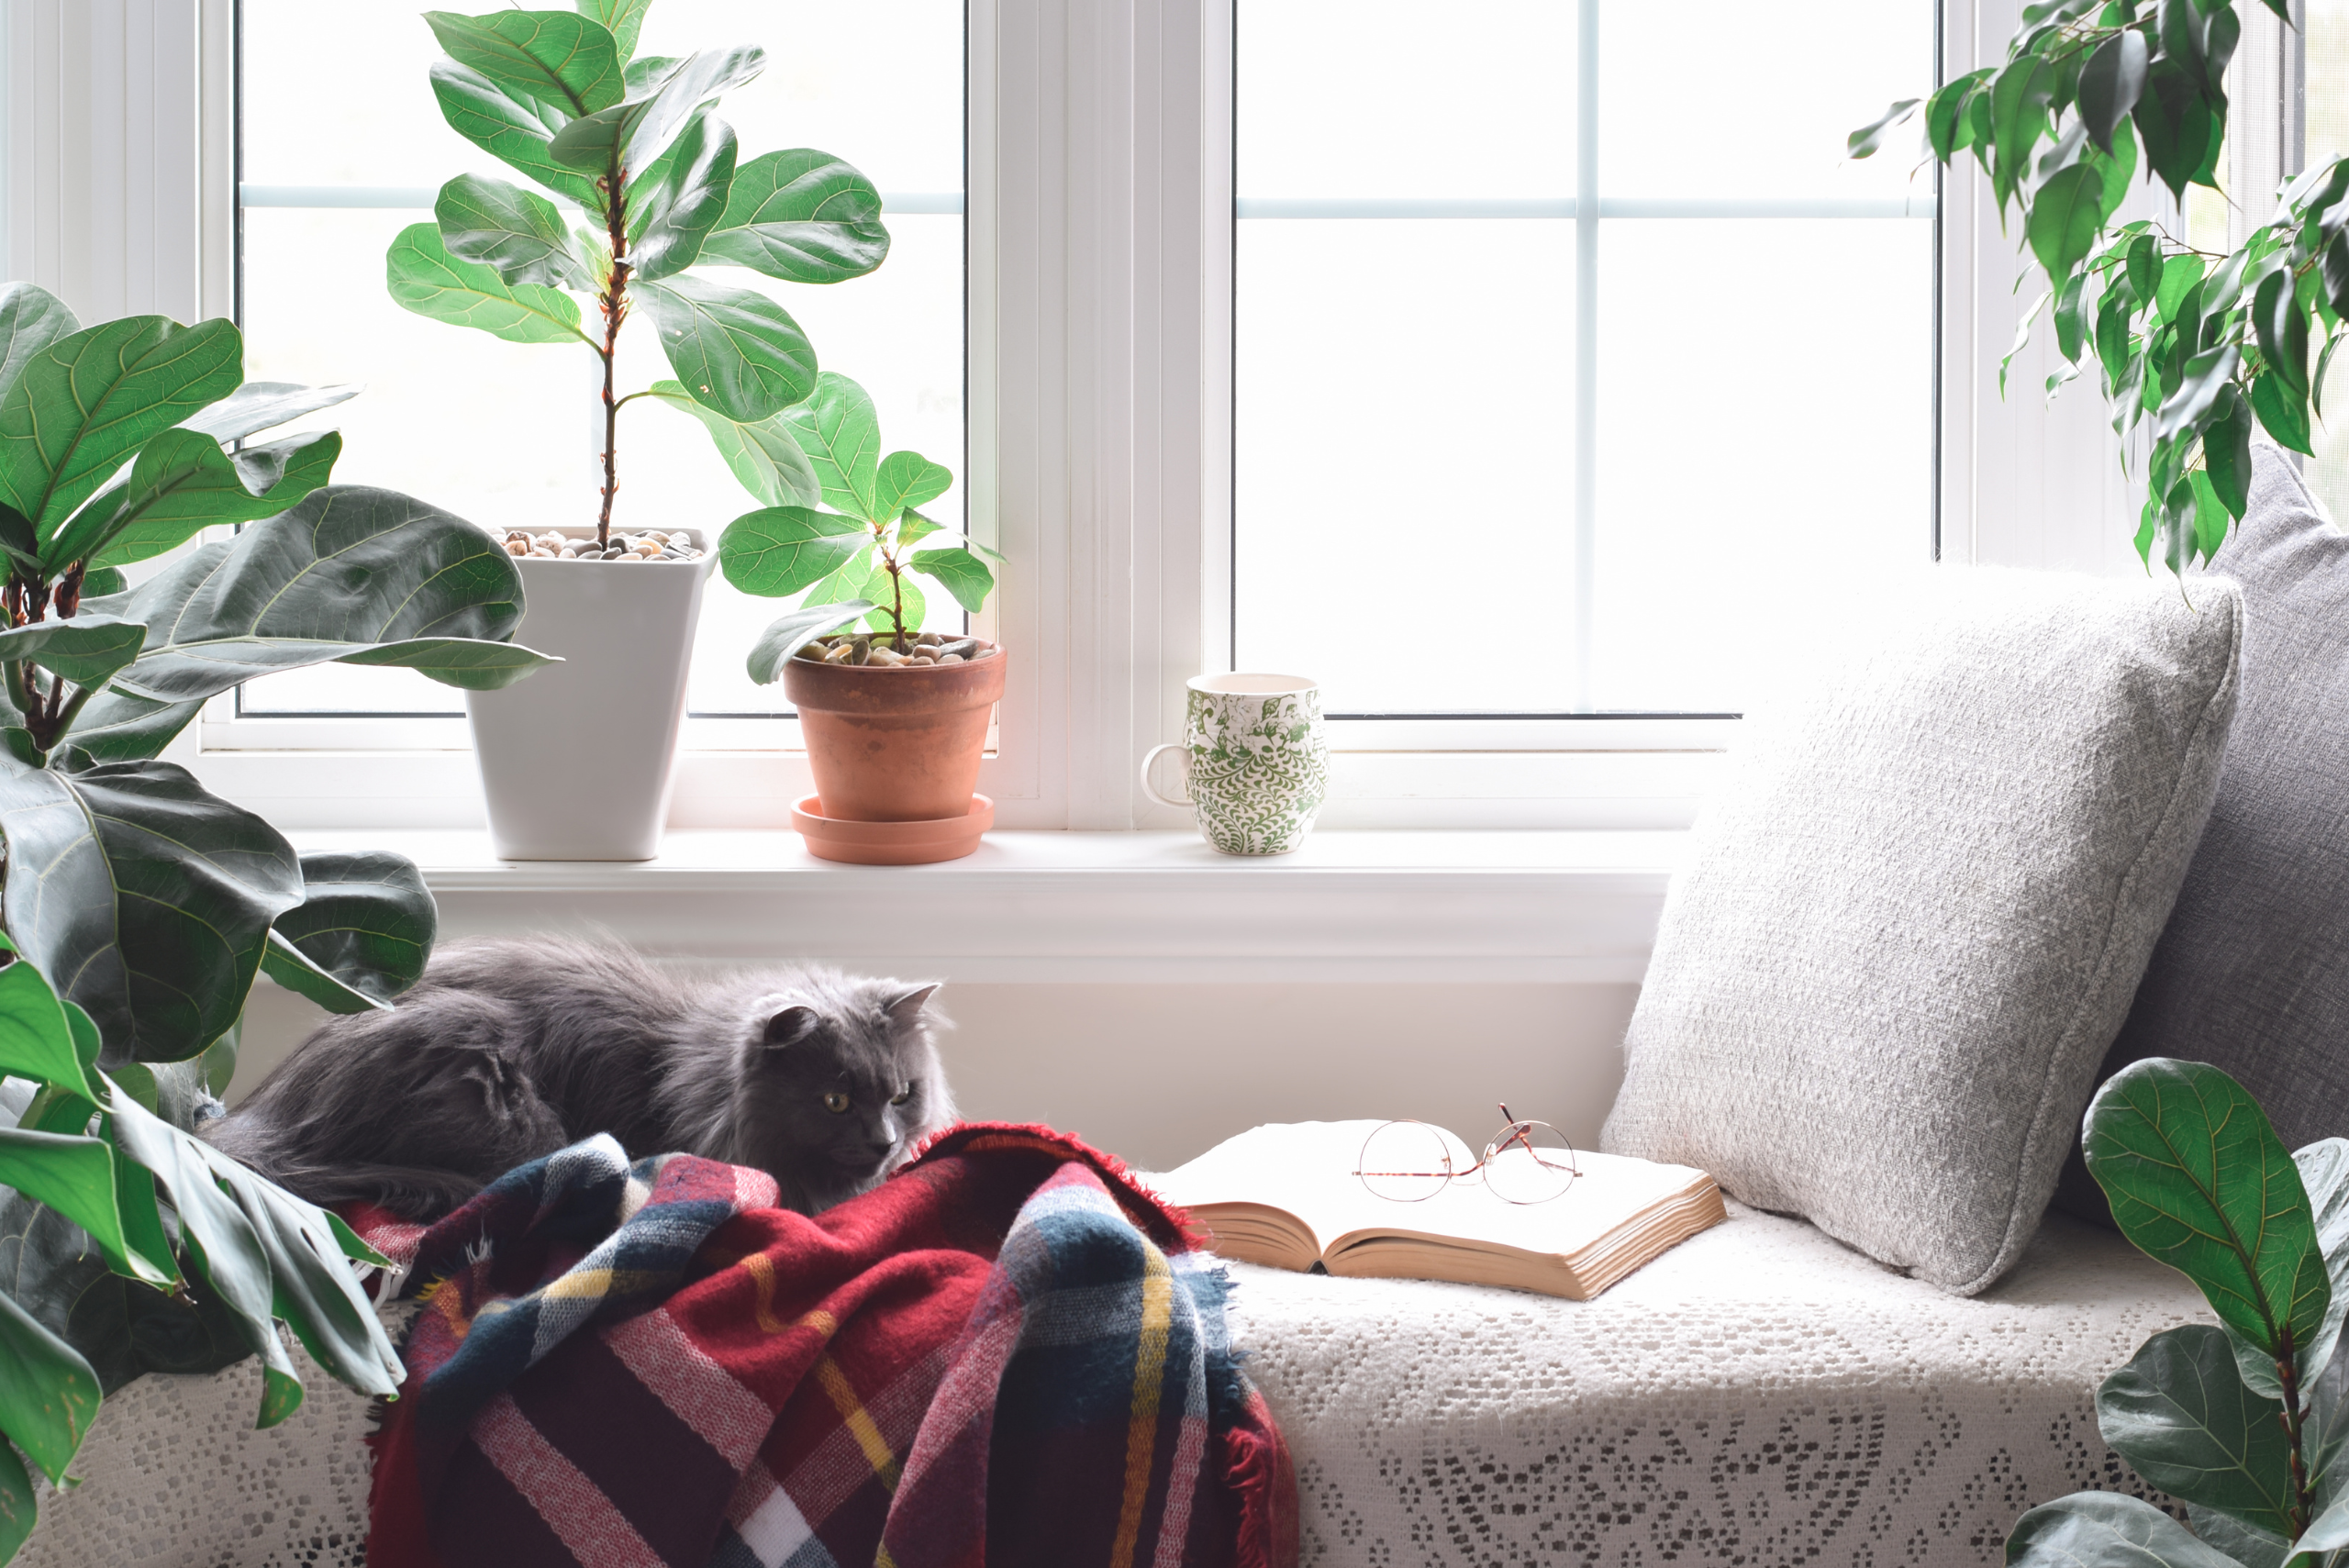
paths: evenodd
<path fill-rule="evenodd" d="M 2039 1228 L 2210 812 L 2241 599 L 1912 592 L 1698 822 L 1602 1148 L 1973 1293 Z"/>

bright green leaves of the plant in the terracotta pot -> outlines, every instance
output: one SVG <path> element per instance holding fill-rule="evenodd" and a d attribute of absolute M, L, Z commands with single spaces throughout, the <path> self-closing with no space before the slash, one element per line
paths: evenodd
<path fill-rule="evenodd" d="M 947 493 L 954 474 L 914 451 L 883 458 L 881 420 L 864 387 L 824 371 L 815 394 L 782 413 L 782 427 L 806 455 L 824 505 L 761 507 L 719 535 L 719 568 L 745 594 L 806 592 L 752 646 L 752 681 L 775 681 L 806 643 L 855 620 L 904 653 L 928 615 L 916 575 L 972 615 L 987 603 L 996 575 L 980 556 L 1003 556 L 918 512 Z"/>

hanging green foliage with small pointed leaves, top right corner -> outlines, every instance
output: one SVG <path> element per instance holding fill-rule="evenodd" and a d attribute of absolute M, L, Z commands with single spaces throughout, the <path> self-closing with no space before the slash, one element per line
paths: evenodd
<path fill-rule="evenodd" d="M 2290 23 L 2288 0 L 2264 5 Z M 2274 223 L 2232 254 L 2114 223 L 2140 164 L 2175 202 L 2217 188 L 2241 33 L 2236 0 L 2037 0 L 2001 66 L 1893 103 L 1849 143 L 1870 157 L 1921 110 L 1931 157 L 1973 153 L 2046 275 L 2008 361 L 2041 310 L 2062 359 L 2048 394 L 2095 361 L 2123 462 L 2142 441 L 2138 554 L 2173 570 L 2215 554 L 2243 516 L 2253 427 L 2314 453 L 2349 315 L 2349 160 L 2293 181 Z"/>

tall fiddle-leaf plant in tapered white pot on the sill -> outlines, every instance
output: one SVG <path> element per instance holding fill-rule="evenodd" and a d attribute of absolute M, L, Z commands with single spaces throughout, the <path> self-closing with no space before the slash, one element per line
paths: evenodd
<path fill-rule="evenodd" d="M 507 859 L 660 847 L 709 556 L 674 519 L 613 530 L 620 411 L 651 399 L 691 413 L 768 505 L 817 498 L 778 427 L 815 390 L 808 336 L 766 293 L 691 268 L 834 284 L 888 256 L 881 195 L 841 160 L 808 148 L 738 157 L 714 103 L 759 75 L 766 52 L 634 59 L 644 9 L 425 14 L 446 49 L 432 94 L 449 124 L 590 218 L 573 228 L 543 195 L 460 174 L 435 221 L 402 230 L 388 258 L 409 310 L 512 343 L 585 345 L 604 371 L 594 526 L 507 535 L 529 584 L 529 641 L 568 664 L 531 690 L 467 699 L 491 840 Z M 620 394 L 620 331 L 639 310 L 677 378 Z"/>

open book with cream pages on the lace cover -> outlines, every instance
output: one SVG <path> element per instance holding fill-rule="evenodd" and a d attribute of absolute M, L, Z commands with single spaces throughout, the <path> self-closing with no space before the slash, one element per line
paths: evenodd
<path fill-rule="evenodd" d="M 1727 1218 L 1703 1171 L 1621 1155 L 1574 1153 L 1562 1197 L 1508 1204 L 1475 1176 L 1398 1204 L 1353 1174 L 1379 1122 L 1278 1122 L 1217 1143 L 1146 1178 L 1214 1232 L 1214 1251 L 1245 1263 L 1381 1279 L 1506 1284 L 1590 1300 L 1656 1253 Z M 1454 1169 L 1475 1164 L 1459 1138 Z"/>

